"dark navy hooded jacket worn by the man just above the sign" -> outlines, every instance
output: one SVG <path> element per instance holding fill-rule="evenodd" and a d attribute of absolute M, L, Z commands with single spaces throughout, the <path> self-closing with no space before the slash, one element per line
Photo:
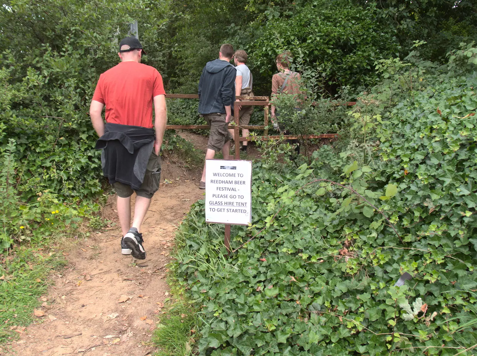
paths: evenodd
<path fill-rule="evenodd" d="M 200 114 L 225 114 L 225 106 L 230 105 L 233 115 L 236 74 L 237 70 L 228 61 L 216 59 L 207 62 L 199 81 Z"/>

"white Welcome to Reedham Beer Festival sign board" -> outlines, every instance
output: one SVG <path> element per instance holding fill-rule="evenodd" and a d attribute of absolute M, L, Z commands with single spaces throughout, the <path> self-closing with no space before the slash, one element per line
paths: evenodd
<path fill-rule="evenodd" d="M 206 222 L 252 221 L 252 161 L 206 160 Z"/>

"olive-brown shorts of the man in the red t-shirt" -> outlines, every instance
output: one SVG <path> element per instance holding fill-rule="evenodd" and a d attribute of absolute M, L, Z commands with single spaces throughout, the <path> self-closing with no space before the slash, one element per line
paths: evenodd
<path fill-rule="evenodd" d="M 149 162 L 147 162 L 146 173 L 144 176 L 143 183 L 136 190 L 138 196 L 143 196 L 145 198 L 151 199 L 154 193 L 159 189 L 159 182 L 161 181 L 161 156 L 157 156 L 152 150 L 151 155 L 149 156 Z M 129 198 L 133 195 L 133 188 L 131 186 L 116 182 L 113 183 L 114 190 L 120 198 Z"/>

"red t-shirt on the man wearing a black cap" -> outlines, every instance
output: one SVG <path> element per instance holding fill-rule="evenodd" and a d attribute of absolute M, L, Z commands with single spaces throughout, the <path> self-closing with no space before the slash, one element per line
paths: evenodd
<path fill-rule="evenodd" d="M 152 102 L 166 94 L 156 68 L 120 62 L 100 75 L 93 100 L 106 106 L 106 122 L 152 128 Z"/>

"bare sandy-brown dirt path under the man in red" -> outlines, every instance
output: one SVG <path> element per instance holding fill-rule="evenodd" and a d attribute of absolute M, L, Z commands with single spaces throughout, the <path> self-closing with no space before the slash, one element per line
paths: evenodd
<path fill-rule="evenodd" d="M 146 260 L 123 256 L 118 226 L 92 233 L 66 257 L 41 298 L 37 324 L 12 343 L 13 354 L 28 356 L 145 356 L 168 297 L 166 264 L 176 227 L 192 203 L 203 197 L 198 174 L 163 163 L 161 187 L 143 225 Z M 172 183 L 164 183 L 165 178 Z M 104 214 L 117 223 L 114 199 Z M 127 300 L 126 300 L 127 299 Z M 119 303 L 119 301 L 124 300 Z"/>

